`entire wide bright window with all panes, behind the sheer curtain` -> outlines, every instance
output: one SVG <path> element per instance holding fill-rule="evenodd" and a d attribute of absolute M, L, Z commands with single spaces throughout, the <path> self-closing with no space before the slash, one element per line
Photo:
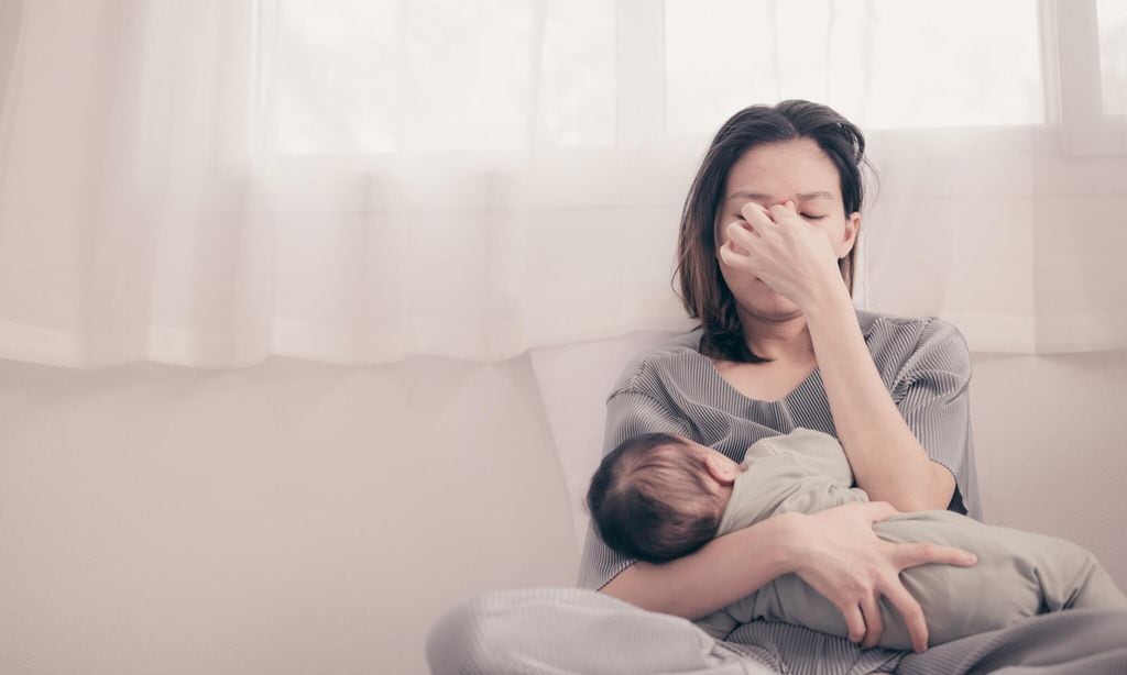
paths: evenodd
<path fill-rule="evenodd" d="M 283 154 L 653 145 L 783 98 L 867 129 L 1059 120 L 1082 154 L 1127 128 L 1118 0 L 260 2 Z"/>

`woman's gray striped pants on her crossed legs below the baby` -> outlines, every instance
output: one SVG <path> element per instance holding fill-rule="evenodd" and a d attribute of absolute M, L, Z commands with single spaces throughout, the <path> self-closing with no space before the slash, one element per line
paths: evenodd
<path fill-rule="evenodd" d="M 916 655 L 763 621 L 721 641 L 594 591 L 516 588 L 452 608 L 432 627 L 426 651 L 435 675 L 1109 675 L 1127 673 L 1127 610 L 1041 614 Z"/>

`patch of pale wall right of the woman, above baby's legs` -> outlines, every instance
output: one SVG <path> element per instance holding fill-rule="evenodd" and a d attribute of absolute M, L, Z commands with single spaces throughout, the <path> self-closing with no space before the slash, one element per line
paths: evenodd
<path fill-rule="evenodd" d="M 986 521 L 1071 539 L 1127 591 L 1127 351 L 973 361 Z"/>

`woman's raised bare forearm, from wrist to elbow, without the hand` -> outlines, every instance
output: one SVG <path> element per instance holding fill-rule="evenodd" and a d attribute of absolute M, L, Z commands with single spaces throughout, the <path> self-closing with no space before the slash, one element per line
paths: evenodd
<path fill-rule="evenodd" d="M 946 508 L 955 479 L 931 461 L 880 379 L 844 285 L 802 308 L 858 486 L 900 511 Z"/>

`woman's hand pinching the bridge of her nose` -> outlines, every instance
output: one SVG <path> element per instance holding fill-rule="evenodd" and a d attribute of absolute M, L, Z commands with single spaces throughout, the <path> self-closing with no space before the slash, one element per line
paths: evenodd
<path fill-rule="evenodd" d="M 754 274 L 799 308 L 843 284 L 829 236 L 795 212 L 795 202 L 766 209 L 749 201 L 742 220 L 726 226 L 725 264 Z"/>

